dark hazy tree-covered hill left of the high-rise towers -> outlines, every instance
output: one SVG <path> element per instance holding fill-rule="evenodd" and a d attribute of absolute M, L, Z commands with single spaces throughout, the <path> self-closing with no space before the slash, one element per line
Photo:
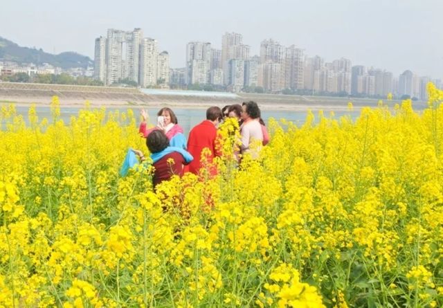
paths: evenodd
<path fill-rule="evenodd" d="M 11 61 L 17 63 L 48 63 L 62 69 L 71 69 L 73 67 L 87 67 L 93 64 L 93 61 L 84 55 L 68 51 L 53 55 L 45 53 L 42 48 L 21 47 L 8 39 L 0 37 L 0 61 Z"/>

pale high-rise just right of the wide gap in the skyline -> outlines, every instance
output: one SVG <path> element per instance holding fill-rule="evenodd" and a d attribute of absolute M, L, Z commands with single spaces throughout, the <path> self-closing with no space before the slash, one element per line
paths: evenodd
<path fill-rule="evenodd" d="M 211 65 L 210 43 L 189 42 L 186 45 L 186 83 L 207 84 Z"/>

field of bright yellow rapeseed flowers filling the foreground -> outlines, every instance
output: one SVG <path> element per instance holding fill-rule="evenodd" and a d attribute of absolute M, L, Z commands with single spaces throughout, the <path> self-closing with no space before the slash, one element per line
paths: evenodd
<path fill-rule="evenodd" d="M 260 159 L 152 190 L 138 119 L 0 113 L 0 307 L 443 307 L 443 91 L 273 121 Z M 352 103 L 350 103 L 352 108 Z M 7 124 L 6 124 L 7 123 Z M 28 123 L 26 125 L 25 123 Z"/>

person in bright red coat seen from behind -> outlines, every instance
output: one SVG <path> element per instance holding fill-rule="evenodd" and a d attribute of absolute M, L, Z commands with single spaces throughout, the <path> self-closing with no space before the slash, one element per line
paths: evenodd
<path fill-rule="evenodd" d="M 203 167 L 201 158 L 204 149 L 207 148 L 207 156 L 204 157 L 208 164 L 213 162 L 213 158 L 219 153 L 217 151 L 217 127 L 216 124 L 221 119 L 221 110 L 219 107 L 210 107 L 206 111 L 206 120 L 193 127 L 188 137 L 188 152 L 194 157 L 194 160 L 186 167 L 186 171 L 198 174 Z M 216 171 L 211 168 L 210 174 Z"/>

